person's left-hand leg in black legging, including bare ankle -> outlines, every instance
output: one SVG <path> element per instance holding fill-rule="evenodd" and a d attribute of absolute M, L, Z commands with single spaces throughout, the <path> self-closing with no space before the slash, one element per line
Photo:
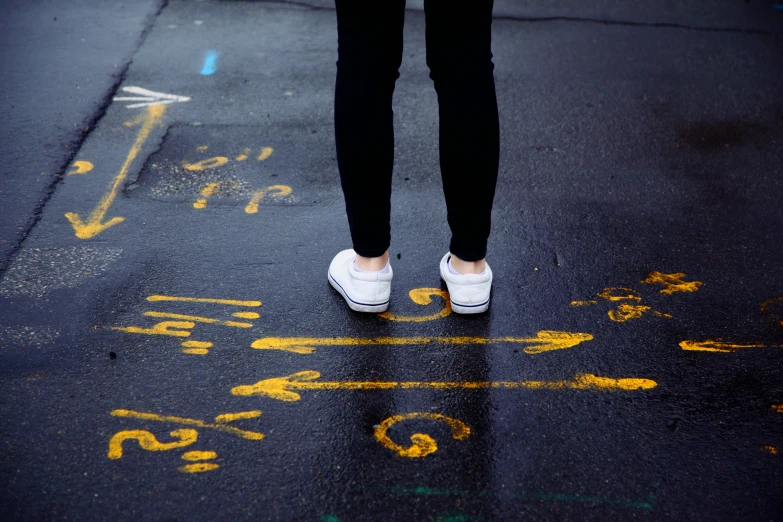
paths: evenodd
<path fill-rule="evenodd" d="M 337 165 L 356 265 L 380 270 L 391 239 L 392 94 L 402 62 L 405 0 L 336 0 Z"/>

